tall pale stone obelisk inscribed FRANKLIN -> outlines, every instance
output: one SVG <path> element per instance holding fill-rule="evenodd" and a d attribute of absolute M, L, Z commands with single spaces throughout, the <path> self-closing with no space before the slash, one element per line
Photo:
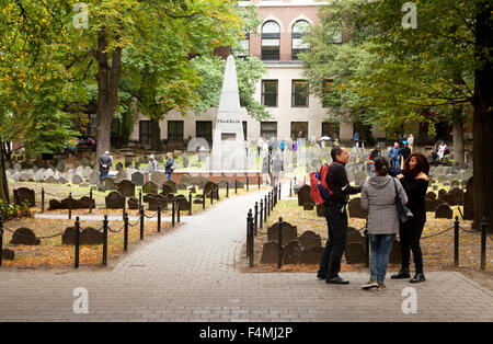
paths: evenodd
<path fill-rule="evenodd" d="M 225 79 L 213 141 L 213 170 L 244 170 L 245 149 L 241 122 L 237 68 L 230 55 L 226 61 Z"/>

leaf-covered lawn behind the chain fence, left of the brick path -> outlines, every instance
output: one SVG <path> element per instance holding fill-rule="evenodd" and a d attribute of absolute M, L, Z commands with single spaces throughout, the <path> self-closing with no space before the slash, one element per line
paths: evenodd
<path fill-rule="evenodd" d="M 135 221 L 130 221 L 135 223 Z M 118 230 L 124 225 L 123 221 L 110 221 L 108 226 L 112 230 Z M 177 223 L 179 226 L 180 223 Z M 21 227 L 27 227 L 34 231 L 36 237 L 49 237 L 61 233 L 67 227 L 73 227 L 74 220 L 51 220 L 22 218 L 13 219 L 4 222 L 4 227 L 15 230 Z M 83 228 L 92 227 L 100 229 L 103 221 L 81 221 L 81 231 Z M 159 234 L 157 232 L 158 223 L 156 221 L 145 222 L 145 238 Z M 170 222 L 161 223 L 161 234 L 171 230 Z M 140 241 L 140 225 L 128 228 L 128 249 L 131 244 Z M 3 260 L 2 265 L 12 267 L 73 267 L 74 246 L 62 245 L 61 236 L 51 239 L 42 239 L 39 245 L 10 245 L 12 233 L 4 231 L 3 249 L 10 249 L 15 252 L 15 260 Z M 107 260 L 108 264 L 112 259 L 116 259 L 123 254 L 124 231 L 113 233 L 108 231 L 107 238 Z M 103 246 L 100 245 L 81 245 L 80 246 L 80 266 L 102 266 Z"/>

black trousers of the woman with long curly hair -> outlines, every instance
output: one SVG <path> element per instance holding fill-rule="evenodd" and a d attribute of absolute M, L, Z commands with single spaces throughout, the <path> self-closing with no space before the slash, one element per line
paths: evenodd
<path fill-rule="evenodd" d="M 423 233 L 425 220 L 413 218 L 399 228 L 401 240 L 402 267 L 409 268 L 411 251 L 413 251 L 414 266 L 416 273 L 423 273 L 423 252 L 421 251 L 420 239 Z"/>

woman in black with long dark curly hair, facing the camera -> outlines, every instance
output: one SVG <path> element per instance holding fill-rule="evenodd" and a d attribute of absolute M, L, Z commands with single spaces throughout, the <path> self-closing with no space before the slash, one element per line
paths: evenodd
<path fill-rule="evenodd" d="M 392 275 L 392 278 L 410 278 L 409 265 L 411 251 L 413 251 L 415 274 L 411 283 L 424 282 L 423 274 L 423 252 L 420 240 L 426 222 L 425 196 L 428 190 L 429 163 L 422 153 L 412 153 L 405 159 L 404 170 L 397 177 L 408 195 L 408 208 L 413 213 L 413 217 L 399 227 L 401 240 L 402 267 L 401 271 Z"/>

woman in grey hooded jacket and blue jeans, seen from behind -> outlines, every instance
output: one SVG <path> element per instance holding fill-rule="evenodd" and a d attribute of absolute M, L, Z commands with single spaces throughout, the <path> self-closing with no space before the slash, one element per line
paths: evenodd
<path fill-rule="evenodd" d="M 395 196 L 401 204 L 408 196 L 398 179 L 387 174 L 389 161 L 375 158 L 376 176 L 366 181 L 362 190 L 362 208 L 368 210 L 368 234 L 370 243 L 370 279 L 363 289 L 386 290 L 383 283 L 389 263 L 389 254 L 399 230 Z"/>

